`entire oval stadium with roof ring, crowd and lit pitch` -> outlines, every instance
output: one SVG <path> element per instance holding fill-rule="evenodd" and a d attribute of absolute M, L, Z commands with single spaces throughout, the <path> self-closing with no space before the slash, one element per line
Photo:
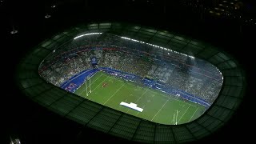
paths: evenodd
<path fill-rule="evenodd" d="M 221 128 L 245 90 L 217 47 L 124 23 L 75 26 L 18 66 L 20 89 L 47 109 L 134 142 L 193 142 Z"/>

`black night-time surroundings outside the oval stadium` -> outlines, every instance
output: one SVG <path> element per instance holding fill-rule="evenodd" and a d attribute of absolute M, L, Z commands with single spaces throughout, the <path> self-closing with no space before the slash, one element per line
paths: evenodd
<path fill-rule="evenodd" d="M 0 2 L 3 78 L 1 119 L 4 120 L 2 122 L 4 142 L 1 143 L 10 143 L 10 136 L 19 138 L 22 144 L 128 142 L 62 118 L 26 98 L 16 86 L 15 68 L 27 51 L 58 32 L 86 22 L 128 22 L 152 26 L 209 42 L 231 54 L 245 70 L 246 94 L 243 101 L 234 117 L 225 126 L 214 134 L 191 143 L 251 142 L 254 139 L 255 125 L 253 117 L 256 95 L 254 90 L 256 4 L 253 0 L 247 0 L 242 4 L 238 3 L 237 8 L 226 8 L 225 14 L 210 13 L 216 10 L 214 8 L 219 6 L 219 3 L 223 2 L 219 0 L 2 0 Z M 45 18 L 46 14 L 50 14 L 51 17 Z M 17 34 L 10 34 L 13 28 L 18 30 Z"/>

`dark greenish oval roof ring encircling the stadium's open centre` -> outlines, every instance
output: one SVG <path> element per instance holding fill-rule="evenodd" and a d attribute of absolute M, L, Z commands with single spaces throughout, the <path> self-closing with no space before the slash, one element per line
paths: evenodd
<path fill-rule="evenodd" d="M 109 33 L 162 46 L 181 54 L 201 58 L 222 73 L 223 84 L 212 106 L 201 117 L 182 125 L 163 125 L 91 102 L 46 82 L 38 67 L 47 55 L 81 34 Z M 180 41 L 173 42 L 178 37 Z M 135 142 L 192 142 L 225 125 L 237 110 L 245 90 L 245 78 L 238 62 L 222 50 L 165 30 L 123 23 L 90 23 L 75 26 L 47 39 L 22 59 L 17 70 L 20 89 L 34 102 L 83 126 Z"/>

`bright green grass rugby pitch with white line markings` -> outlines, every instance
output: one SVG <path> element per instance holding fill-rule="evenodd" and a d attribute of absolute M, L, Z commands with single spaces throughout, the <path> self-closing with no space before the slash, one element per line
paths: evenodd
<path fill-rule="evenodd" d="M 134 82 L 125 82 L 122 78 L 115 78 L 102 71 L 94 74 L 90 82 L 92 93 L 86 96 L 84 83 L 74 94 L 151 122 L 174 125 L 178 110 L 177 124 L 182 124 L 198 118 L 205 110 L 204 106 L 194 102 L 183 102 L 170 94 L 150 87 L 136 86 Z M 103 82 L 107 82 L 107 86 L 102 87 Z M 89 91 L 88 80 L 87 86 Z M 121 106 L 120 102 L 136 103 L 143 111 Z"/>

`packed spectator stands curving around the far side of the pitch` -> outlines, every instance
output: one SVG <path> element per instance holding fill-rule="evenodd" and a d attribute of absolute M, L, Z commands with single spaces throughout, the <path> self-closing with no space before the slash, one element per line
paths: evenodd
<path fill-rule="evenodd" d="M 97 61 L 92 64 L 92 58 Z M 182 90 L 210 105 L 222 88 L 220 71 L 202 59 L 115 34 L 83 34 L 49 54 L 38 72 L 46 82 L 62 87 L 84 70 L 110 68 Z"/>

